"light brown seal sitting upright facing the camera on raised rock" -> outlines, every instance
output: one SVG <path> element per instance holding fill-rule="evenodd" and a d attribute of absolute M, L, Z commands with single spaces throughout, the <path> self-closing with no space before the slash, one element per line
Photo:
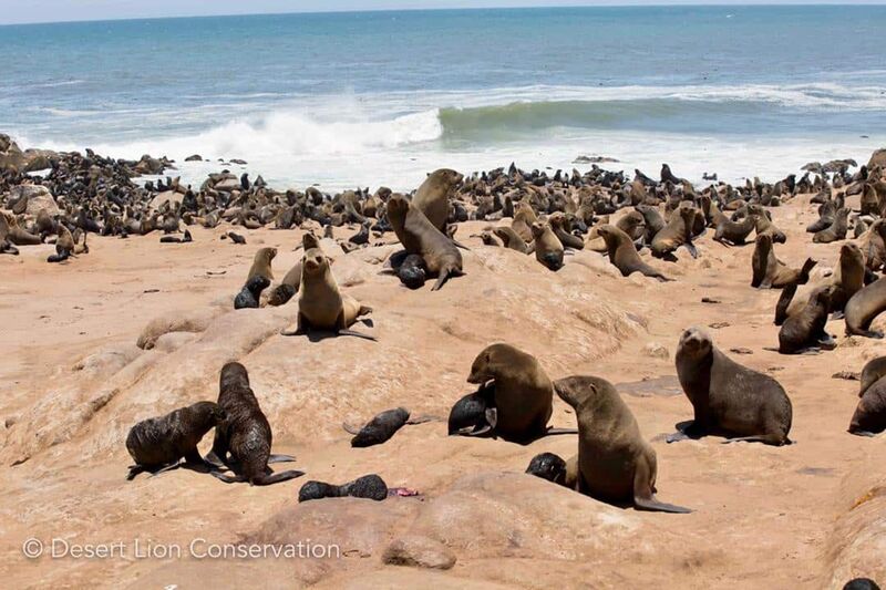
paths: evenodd
<path fill-rule="evenodd" d="M 375 337 L 350 330 L 358 318 L 371 312 L 372 308 L 339 291 L 329 268 L 329 258 L 319 248 L 311 248 L 301 257 L 297 328 L 293 332 L 282 331 L 281 334 L 290 337 L 307 334 L 311 330 L 331 330 L 338 335 L 374 341 L 378 340 Z"/>

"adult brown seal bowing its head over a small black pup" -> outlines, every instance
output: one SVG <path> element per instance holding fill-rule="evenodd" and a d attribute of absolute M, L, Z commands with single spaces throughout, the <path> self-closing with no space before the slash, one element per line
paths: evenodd
<path fill-rule="evenodd" d="M 554 387 L 532 354 L 511 344 L 486 346 L 471 365 L 467 382 L 493 382 L 494 432 L 505 441 L 529 443 L 548 434 L 575 434 L 575 429 L 548 428 L 554 412 Z"/>

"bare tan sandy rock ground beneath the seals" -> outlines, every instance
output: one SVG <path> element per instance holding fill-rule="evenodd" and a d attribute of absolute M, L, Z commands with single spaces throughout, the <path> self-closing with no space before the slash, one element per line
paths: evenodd
<path fill-rule="evenodd" d="M 839 244 L 813 245 L 804 232 L 815 216 L 808 197 L 772 211 L 789 235 L 776 246 L 780 258 L 800 266 L 813 256 L 816 273 L 835 263 Z M 886 352 L 882 342 L 846 339 L 843 323 L 832 321 L 828 331 L 839 337 L 833 352 L 763 350 L 777 346 L 779 292 L 750 287 L 753 246 L 727 249 L 710 230 L 698 260 L 681 250 L 677 263 L 652 262 L 677 279 L 659 283 L 621 278 L 594 252 L 567 257 L 553 273 L 534 257 L 467 238 L 484 226 L 460 228 L 472 247 L 467 275 L 436 293 L 380 275 L 390 246 L 330 251 L 342 288 L 374 308 L 373 325 L 359 329 L 378 343 L 280 337 L 295 321 L 295 301 L 233 311 L 256 249 L 279 249 L 280 279 L 298 257 L 300 231 L 244 231 L 246 246 L 220 240 L 220 228 L 192 228 L 188 245 L 161 245 L 156 235 L 96 237 L 87 256 L 60 266 L 45 262 L 50 246 L 0 257 L 3 586 L 811 589 L 842 588 L 855 576 L 886 580 L 886 437 L 846 433 L 858 383 L 831 376 L 859 371 Z M 158 318 L 174 331 L 154 333 L 153 348 L 140 349 Z M 784 385 L 796 444 L 664 443 L 692 417 L 673 364 L 689 325 L 705 327 L 723 351 L 750 350 L 729 354 Z M 342 422 L 398 405 L 445 418 L 472 391 L 473 358 L 495 341 L 535 354 L 553 379 L 594 374 L 616 383 L 658 454 L 659 497 L 694 511 L 616 508 L 523 474 L 538 453 L 574 454 L 570 436 L 519 446 L 450 438 L 445 422 L 432 422 L 381 446 L 350 448 Z M 275 451 L 296 455 L 307 475 L 267 488 L 188 470 L 127 483 L 130 426 L 215 400 L 229 360 L 250 371 Z M 559 400 L 552 422 L 574 425 Z M 341 484 L 369 473 L 422 496 L 297 504 L 308 479 Z M 43 557 L 22 555 L 29 538 L 44 544 Z M 122 549 L 104 559 L 52 558 L 52 539 Z M 192 548 L 194 539 L 203 541 Z M 423 566 L 383 562 L 398 539 Z M 204 550 L 306 540 L 338 552 L 213 559 Z M 454 567 L 439 569 L 447 558 Z"/>

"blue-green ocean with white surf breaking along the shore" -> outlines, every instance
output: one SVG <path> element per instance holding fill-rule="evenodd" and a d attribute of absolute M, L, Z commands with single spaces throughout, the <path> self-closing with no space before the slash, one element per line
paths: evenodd
<path fill-rule="evenodd" d="M 507 166 L 774 180 L 886 146 L 886 7 L 637 7 L 0 27 L 0 132 L 241 158 L 278 187 Z M 238 167 L 234 167 L 238 169 Z"/>

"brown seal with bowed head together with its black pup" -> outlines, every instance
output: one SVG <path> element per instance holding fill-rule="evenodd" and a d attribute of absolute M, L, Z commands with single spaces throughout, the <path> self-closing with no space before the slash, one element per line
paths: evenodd
<path fill-rule="evenodd" d="M 491 432 L 505 441 L 528 444 L 547 435 L 577 433 L 547 426 L 554 412 L 550 379 L 535 356 L 509 344 L 484 349 L 471 365 L 467 382 L 481 385 L 481 391 L 455 404 L 450 434 Z M 459 429 L 453 431 L 454 424 Z"/>

